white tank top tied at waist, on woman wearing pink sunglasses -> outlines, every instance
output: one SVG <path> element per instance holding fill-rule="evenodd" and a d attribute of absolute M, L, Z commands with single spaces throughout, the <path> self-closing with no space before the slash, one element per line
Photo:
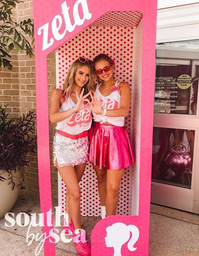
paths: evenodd
<path fill-rule="evenodd" d="M 121 101 L 121 96 L 118 93 L 119 90 L 119 84 L 120 82 L 117 80 L 115 82 L 114 86 L 114 91 L 109 94 L 108 96 L 104 96 L 100 93 L 99 87 L 101 84 L 97 84 L 95 93 L 96 97 L 99 98 L 101 96 L 101 107 L 105 108 L 107 110 L 112 110 L 112 109 L 117 109 L 120 107 L 120 101 Z M 111 123 L 112 125 L 115 126 L 124 126 L 124 117 L 107 117 L 107 116 L 101 116 L 93 113 L 93 119 L 95 122 L 100 122 L 100 123 Z"/>

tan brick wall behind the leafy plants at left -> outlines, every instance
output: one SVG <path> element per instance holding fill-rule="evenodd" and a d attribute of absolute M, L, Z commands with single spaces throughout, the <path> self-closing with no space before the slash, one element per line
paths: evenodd
<path fill-rule="evenodd" d="M 32 0 L 24 0 L 16 8 L 15 18 L 19 22 L 24 19 L 32 18 Z M 13 70 L 6 68 L 0 69 L 0 105 L 9 104 L 7 110 L 10 117 L 17 117 L 19 114 L 33 111 L 36 113 L 36 85 L 35 85 L 35 60 L 28 58 L 25 54 L 12 53 Z M 52 52 L 47 58 L 48 65 L 48 91 L 49 99 L 51 91 L 56 87 L 55 71 L 55 52 Z M 50 101 L 49 101 L 50 102 Z M 54 125 L 50 127 L 50 149 L 52 159 L 52 143 L 55 133 Z M 36 136 L 36 130 L 35 130 Z M 22 185 L 33 190 L 39 190 L 38 186 L 38 163 L 37 152 L 30 153 L 28 156 L 30 166 L 23 167 Z M 57 170 L 53 167 L 51 160 L 51 185 L 52 194 L 57 196 Z"/>

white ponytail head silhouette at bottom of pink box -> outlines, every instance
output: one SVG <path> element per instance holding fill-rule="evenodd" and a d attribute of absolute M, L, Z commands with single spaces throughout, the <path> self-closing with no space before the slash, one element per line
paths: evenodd
<path fill-rule="evenodd" d="M 126 225 L 121 222 L 114 223 L 107 227 L 107 236 L 105 237 L 105 243 L 107 247 L 114 247 L 113 256 L 122 256 L 122 246 L 128 242 L 128 249 L 133 252 L 137 249 L 134 247 L 139 238 L 139 229 L 135 225 Z"/>

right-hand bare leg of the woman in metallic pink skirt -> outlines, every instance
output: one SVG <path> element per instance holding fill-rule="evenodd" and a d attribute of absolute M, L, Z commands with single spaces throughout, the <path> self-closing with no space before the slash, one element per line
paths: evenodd
<path fill-rule="evenodd" d="M 116 214 L 122 170 L 107 170 L 106 216 Z"/>

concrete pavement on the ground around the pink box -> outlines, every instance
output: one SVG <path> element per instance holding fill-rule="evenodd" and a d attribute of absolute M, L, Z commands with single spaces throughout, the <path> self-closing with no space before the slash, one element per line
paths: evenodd
<path fill-rule="evenodd" d="M 53 198 L 53 204 L 57 206 L 56 198 Z M 28 210 L 30 213 L 40 213 L 40 205 L 39 194 L 26 188 L 20 191 L 11 212 L 16 216 Z M 82 217 L 88 238 L 99 220 L 99 217 Z M 28 228 L 17 225 L 5 227 L 4 222 L 4 218 L 0 220 L 0 256 L 34 256 L 39 242 L 33 241 L 28 246 Z M 41 235 L 41 227 L 34 227 L 33 232 Z M 56 256 L 78 256 L 73 243 L 59 242 L 55 248 Z M 39 256 L 43 255 L 44 251 L 41 250 Z M 199 215 L 152 204 L 149 256 L 199 256 Z"/>

